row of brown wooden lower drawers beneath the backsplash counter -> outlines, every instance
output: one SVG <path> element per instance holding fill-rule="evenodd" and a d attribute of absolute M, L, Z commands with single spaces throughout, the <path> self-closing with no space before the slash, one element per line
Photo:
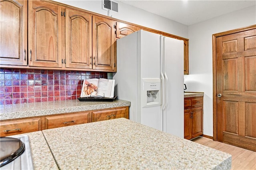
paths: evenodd
<path fill-rule="evenodd" d="M 116 118 L 129 119 L 129 107 L 116 107 L 110 109 L 100 109 L 93 111 L 81 111 L 64 113 L 58 115 L 48 115 L 33 118 L 21 118 L 0 121 L 0 136 L 10 136 L 44 130 L 48 128 L 65 127 L 96 121 L 104 121 Z"/>

